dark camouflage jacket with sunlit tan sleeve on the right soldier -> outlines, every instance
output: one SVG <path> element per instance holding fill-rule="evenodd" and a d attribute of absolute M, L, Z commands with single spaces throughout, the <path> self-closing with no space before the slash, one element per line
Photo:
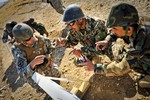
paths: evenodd
<path fill-rule="evenodd" d="M 133 69 L 136 72 L 150 75 L 150 26 L 140 26 L 133 33 L 128 50 L 120 62 L 96 64 L 95 71 L 107 76 L 122 75 Z"/>

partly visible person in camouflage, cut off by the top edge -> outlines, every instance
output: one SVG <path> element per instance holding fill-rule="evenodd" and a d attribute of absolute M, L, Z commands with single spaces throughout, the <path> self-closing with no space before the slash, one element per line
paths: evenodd
<path fill-rule="evenodd" d="M 65 7 L 62 4 L 62 0 L 42 0 L 42 2 L 50 3 L 50 5 L 59 13 L 63 14 Z"/>

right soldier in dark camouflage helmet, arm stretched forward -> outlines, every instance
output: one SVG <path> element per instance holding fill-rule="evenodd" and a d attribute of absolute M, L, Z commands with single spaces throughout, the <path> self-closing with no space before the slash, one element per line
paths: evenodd
<path fill-rule="evenodd" d="M 112 34 L 118 37 L 129 36 L 130 44 L 124 57 L 109 64 L 92 64 L 89 60 L 84 67 L 89 71 L 105 74 L 106 76 L 118 76 L 132 70 L 140 73 L 142 79 L 138 79 L 139 86 L 150 88 L 150 25 L 140 25 L 136 8 L 132 5 L 121 3 L 113 6 L 107 20 L 107 27 L 111 28 Z M 105 46 L 110 41 L 98 43 Z M 105 44 L 105 45 L 104 45 Z"/>

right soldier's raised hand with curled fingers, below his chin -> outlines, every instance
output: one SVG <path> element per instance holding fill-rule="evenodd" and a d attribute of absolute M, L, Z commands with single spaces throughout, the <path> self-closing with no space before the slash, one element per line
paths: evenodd
<path fill-rule="evenodd" d="M 96 44 L 96 51 L 102 51 L 108 47 L 108 42 L 105 40 L 96 42 L 95 44 Z"/>

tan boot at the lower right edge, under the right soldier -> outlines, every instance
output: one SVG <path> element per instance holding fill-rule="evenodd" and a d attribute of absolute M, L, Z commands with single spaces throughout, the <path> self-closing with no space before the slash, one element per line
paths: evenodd
<path fill-rule="evenodd" d="M 146 75 L 144 78 L 139 80 L 139 86 L 142 88 L 150 88 L 150 76 Z"/>

